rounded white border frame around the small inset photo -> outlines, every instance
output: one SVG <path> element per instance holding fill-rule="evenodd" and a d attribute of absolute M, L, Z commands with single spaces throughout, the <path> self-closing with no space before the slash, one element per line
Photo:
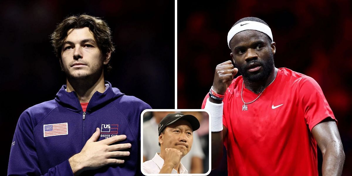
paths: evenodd
<path fill-rule="evenodd" d="M 209 168 L 208 172 L 204 174 L 146 174 L 143 171 L 143 115 L 146 112 L 154 112 L 154 111 L 197 111 L 197 112 L 206 112 L 209 115 Z M 207 109 L 145 109 L 141 114 L 140 114 L 140 171 L 142 172 L 143 175 L 145 176 L 180 176 L 180 175 L 185 175 L 185 176 L 206 176 L 210 174 L 210 171 L 212 169 L 212 120 L 211 120 L 211 114 Z"/>

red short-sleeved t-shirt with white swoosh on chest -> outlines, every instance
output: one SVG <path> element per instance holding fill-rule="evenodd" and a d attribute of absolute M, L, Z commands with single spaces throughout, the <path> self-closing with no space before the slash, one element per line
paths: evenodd
<path fill-rule="evenodd" d="M 279 68 L 275 81 L 242 111 L 242 83 L 242 76 L 234 79 L 223 100 L 228 175 L 318 175 L 311 130 L 327 117 L 336 121 L 319 84 Z M 243 89 L 245 102 L 258 95 Z"/>

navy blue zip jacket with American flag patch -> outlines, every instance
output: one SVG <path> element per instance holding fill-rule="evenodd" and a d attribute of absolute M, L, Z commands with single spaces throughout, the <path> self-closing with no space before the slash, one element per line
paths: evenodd
<path fill-rule="evenodd" d="M 119 143 L 131 143 L 125 163 L 107 165 L 82 175 L 140 175 L 140 115 L 151 107 L 134 96 L 127 96 L 109 82 L 104 93 L 95 92 L 84 113 L 75 92 L 66 85 L 55 100 L 24 111 L 16 126 L 7 175 L 73 175 L 68 159 L 79 153 L 100 128 L 99 140 L 125 134 Z"/>

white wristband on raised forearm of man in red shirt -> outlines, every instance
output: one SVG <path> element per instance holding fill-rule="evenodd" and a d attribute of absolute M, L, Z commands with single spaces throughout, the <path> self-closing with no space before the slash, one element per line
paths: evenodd
<path fill-rule="evenodd" d="M 212 115 L 212 132 L 222 131 L 222 111 L 224 107 L 224 102 L 213 103 L 207 99 L 204 109 L 207 109 Z"/>

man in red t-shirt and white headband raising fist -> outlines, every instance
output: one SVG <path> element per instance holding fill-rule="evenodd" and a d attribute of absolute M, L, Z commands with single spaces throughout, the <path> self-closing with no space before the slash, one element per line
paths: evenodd
<path fill-rule="evenodd" d="M 212 166 L 227 149 L 228 175 L 341 175 L 345 160 L 337 120 L 318 83 L 275 68 L 275 42 L 259 18 L 235 23 L 231 61 L 215 69 L 202 108 L 212 115 Z M 233 79 L 237 72 L 241 76 Z"/>

